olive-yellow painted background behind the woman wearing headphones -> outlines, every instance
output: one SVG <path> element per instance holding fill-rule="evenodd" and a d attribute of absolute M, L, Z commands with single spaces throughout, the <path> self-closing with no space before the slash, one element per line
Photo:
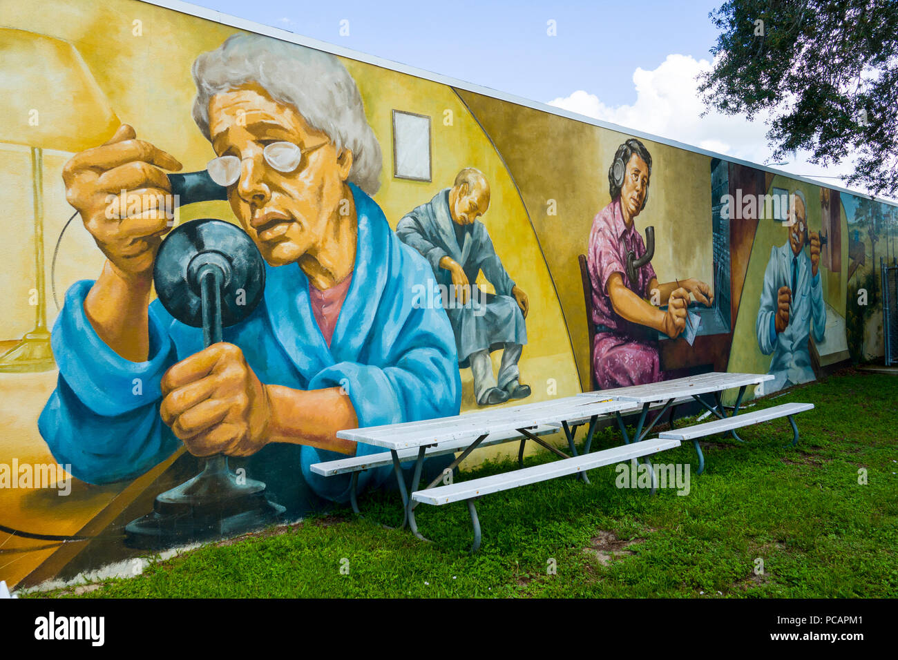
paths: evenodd
<path fill-rule="evenodd" d="M 630 136 L 489 96 L 459 93 L 522 191 L 568 322 L 580 383 L 589 390 L 589 336 L 577 255 L 586 253 L 593 218 L 611 201 L 608 168 Z M 652 266 L 658 281 L 698 277 L 713 286 L 710 159 L 642 142 L 652 156 L 652 176 L 646 207 L 635 223 L 643 236 L 647 226 L 655 226 Z M 550 200 L 555 201 L 555 216 L 549 215 Z"/>

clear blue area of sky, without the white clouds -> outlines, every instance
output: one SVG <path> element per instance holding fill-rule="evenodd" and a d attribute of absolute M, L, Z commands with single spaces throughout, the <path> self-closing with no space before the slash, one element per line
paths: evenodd
<path fill-rule="evenodd" d="M 635 101 L 632 76 L 670 53 L 709 58 L 714 2 L 288 2 L 195 4 L 409 66 L 551 101 L 577 89 Z M 288 19 L 285 22 L 282 19 Z M 340 21 L 348 20 L 348 36 Z M 557 36 L 547 35 L 547 22 Z"/>

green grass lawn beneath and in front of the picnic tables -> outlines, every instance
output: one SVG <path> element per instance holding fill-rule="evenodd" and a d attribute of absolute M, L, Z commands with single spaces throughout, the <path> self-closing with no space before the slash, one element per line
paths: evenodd
<path fill-rule="evenodd" d="M 589 486 L 567 478 L 484 497 L 483 544 L 473 557 L 463 503 L 418 507 L 421 532 L 436 541 L 427 543 L 381 526 L 400 522 L 398 495 L 377 493 L 360 499 L 364 519 L 339 509 L 189 551 L 81 595 L 894 597 L 896 400 L 898 377 L 852 371 L 760 400 L 753 409 L 816 405 L 797 416 L 798 446 L 783 446 L 791 439 L 784 418 L 742 429 L 745 444 L 714 437 L 700 476 L 691 443 L 658 454 L 656 462 L 691 463 L 686 496 L 616 488 L 608 466 L 589 472 Z M 620 435 L 608 428 L 593 446 L 616 444 Z M 543 451 L 528 463 L 550 460 Z"/>

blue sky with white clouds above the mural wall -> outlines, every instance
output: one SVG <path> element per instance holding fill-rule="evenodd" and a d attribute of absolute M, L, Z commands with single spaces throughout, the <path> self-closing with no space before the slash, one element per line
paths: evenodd
<path fill-rule="evenodd" d="M 711 64 L 723 0 L 427 2 L 197 0 L 194 4 L 344 48 L 541 101 L 784 172 L 842 185 L 850 162 L 799 152 L 774 163 L 766 116 L 705 109 L 696 76 Z M 348 21 L 348 35 L 341 22 Z M 554 21 L 556 36 L 547 33 Z M 343 23 L 345 26 L 346 23 Z"/>

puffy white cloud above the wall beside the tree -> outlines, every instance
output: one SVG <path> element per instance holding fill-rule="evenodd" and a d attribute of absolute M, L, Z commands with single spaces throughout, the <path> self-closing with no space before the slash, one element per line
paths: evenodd
<path fill-rule="evenodd" d="M 701 117 L 706 106 L 700 99 L 696 76 L 708 71 L 710 66 L 707 59 L 668 55 L 657 68 L 647 71 L 640 67 L 633 73 L 636 101 L 632 105 L 609 106 L 596 94 L 585 90 L 549 101 L 549 105 L 751 163 L 770 163 L 773 150 L 767 144 L 768 127 L 764 124 L 768 115 L 748 121 L 744 116 L 727 116 L 709 110 Z M 786 159 L 786 165 L 770 164 L 811 179 L 852 171 L 851 163 L 823 167 L 808 163 L 808 156 L 798 152 L 795 158 Z M 840 179 L 818 180 L 829 185 L 842 185 Z"/>

